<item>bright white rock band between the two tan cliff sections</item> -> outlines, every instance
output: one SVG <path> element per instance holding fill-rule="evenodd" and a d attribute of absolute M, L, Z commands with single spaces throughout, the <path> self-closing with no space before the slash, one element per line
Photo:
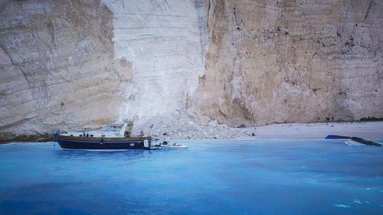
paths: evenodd
<path fill-rule="evenodd" d="M 119 119 L 184 109 L 203 74 L 203 0 L 102 2 L 113 11 L 114 58 L 132 69 L 121 86 Z"/>

